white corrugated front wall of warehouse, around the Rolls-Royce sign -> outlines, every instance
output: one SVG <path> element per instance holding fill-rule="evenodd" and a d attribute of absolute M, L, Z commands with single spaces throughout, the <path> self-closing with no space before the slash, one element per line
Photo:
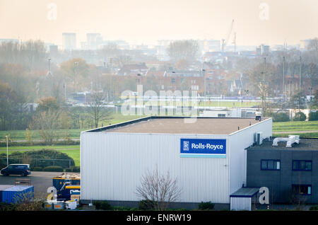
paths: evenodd
<path fill-rule="evenodd" d="M 136 187 L 158 165 L 178 179 L 179 202 L 229 203 L 227 158 L 180 158 L 181 138 L 228 139 L 227 135 L 81 133 L 81 199 L 139 201 Z"/>

